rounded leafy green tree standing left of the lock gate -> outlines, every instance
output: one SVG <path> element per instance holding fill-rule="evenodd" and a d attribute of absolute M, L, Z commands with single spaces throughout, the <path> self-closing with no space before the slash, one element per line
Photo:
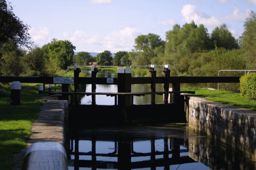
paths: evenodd
<path fill-rule="evenodd" d="M 58 69 L 66 69 L 73 64 L 76 47 L 68 40 L 58 40 L 46 45 L 50 63 Z M 46 50 L 44 50 L 46 51 Z"/>

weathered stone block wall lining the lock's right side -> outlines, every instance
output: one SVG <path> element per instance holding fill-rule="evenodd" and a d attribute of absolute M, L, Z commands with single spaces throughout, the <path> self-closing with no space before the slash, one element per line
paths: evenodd
<path fill-rule="evenodd" d="M 256 111 L 188 96 L 188 126 L 256 160 Z"/>

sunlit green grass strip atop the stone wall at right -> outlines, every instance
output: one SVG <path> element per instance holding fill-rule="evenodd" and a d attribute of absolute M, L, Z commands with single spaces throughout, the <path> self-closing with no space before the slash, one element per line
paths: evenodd
<path fill-rule="evenodd" d="M 206 100 L 221 102 L 232 106 L 244 107 L 256 111 L 256 101 L 246 100 L 240 93 L 225 90 L 208 90 L 202 88 L 181 88 L 181 90 L 195 91 L 195 95 L 202 96 Z"/>

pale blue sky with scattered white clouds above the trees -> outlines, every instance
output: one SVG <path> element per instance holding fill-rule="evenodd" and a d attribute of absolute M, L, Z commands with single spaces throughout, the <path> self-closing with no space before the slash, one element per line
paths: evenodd
<path fill-rule="evenodd" d="M 204 24 L 212 30 L 225 23 L 235 38 L 256 12 L 256 0 L 6 0 L 29 25 L 39 47 L 51 39 L 68 40 L 75 52 L 131 51 L 138 35 L 162 40 L 173 25 Z"/>

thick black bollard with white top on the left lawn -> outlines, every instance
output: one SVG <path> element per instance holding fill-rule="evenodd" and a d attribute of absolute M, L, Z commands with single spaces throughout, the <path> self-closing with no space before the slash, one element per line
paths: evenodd
<path fill-rule="evenodd" d="M 21 84 L 18 81 L 12 82 L 11 85 L 11 105 L 20 105 Z"/>

